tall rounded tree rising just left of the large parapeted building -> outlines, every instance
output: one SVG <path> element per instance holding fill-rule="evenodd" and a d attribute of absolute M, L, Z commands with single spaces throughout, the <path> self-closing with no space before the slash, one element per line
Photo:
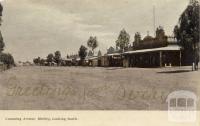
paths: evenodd
<path fill-rule="evenodd" d="M 128 48 L 130 41 L 130 35 L 126 32 L 125 29 L 120 31 L 118 39 L 116 41 L 116 46 L 119 47 L 121 50 Z"/>

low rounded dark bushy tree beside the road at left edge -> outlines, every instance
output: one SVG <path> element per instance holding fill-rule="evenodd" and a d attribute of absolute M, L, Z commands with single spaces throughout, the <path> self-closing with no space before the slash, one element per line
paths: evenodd
<path fill-rule="evenodd" d="M 11 66 L 15 65 L 14 58 L 9 53 L 1 53 L 0 54 L 0 61 L 7 65 L 7 68 L 10 68 Z"/>

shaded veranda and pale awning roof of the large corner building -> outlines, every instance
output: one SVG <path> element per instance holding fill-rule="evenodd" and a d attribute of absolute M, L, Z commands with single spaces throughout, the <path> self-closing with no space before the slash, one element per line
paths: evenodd
<path fill-rule="evenodd" d="M 181 47 L 178 45 L 128 51 L 123 56 L 124 67 L 181 66 Z"/>

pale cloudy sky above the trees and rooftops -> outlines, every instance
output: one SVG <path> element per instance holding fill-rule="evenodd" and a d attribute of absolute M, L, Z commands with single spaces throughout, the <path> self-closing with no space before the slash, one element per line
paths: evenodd
<path fill-rule="evenodd" d="M 61 51 L 62 57 L 76 54 L 87 45 L 90 36 L 97 36 L 103 53 L 115 41 L 123 28 L 142 37 L 154 35 L 153 6 L 156 26 L 173 34 L 178 18 L 189 0 L 4 0 L 1 32 L 5 52 L 15 61 L 45 58 Z"/>

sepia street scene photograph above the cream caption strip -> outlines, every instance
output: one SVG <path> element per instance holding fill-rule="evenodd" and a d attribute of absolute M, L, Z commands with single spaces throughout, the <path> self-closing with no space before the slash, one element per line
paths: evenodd
<path fill-rule="evenodd" d="M 0 110 L 195 119 L 173 112 L 200 109 L 198 0 L 0 3 Z"/>

